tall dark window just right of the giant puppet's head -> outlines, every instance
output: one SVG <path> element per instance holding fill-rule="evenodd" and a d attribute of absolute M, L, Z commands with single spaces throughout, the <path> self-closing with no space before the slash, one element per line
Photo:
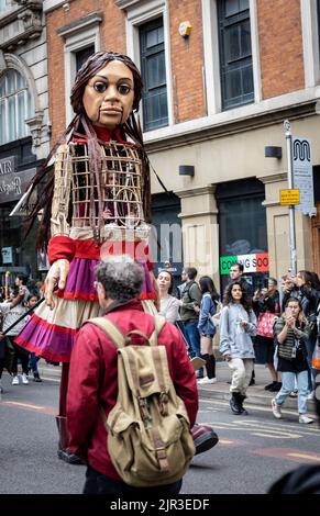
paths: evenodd
<path fill-rule="evenodd" d="M 163 18 L 140 26 L 143 130 L 168 125 Z"/>

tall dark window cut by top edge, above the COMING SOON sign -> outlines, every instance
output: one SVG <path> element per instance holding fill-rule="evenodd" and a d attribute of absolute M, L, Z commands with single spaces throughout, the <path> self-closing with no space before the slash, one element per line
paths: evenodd
<path fill-rule="evenodd" d="M 222 109 L 254 100 L 249 0 L 218 0 Z"/>

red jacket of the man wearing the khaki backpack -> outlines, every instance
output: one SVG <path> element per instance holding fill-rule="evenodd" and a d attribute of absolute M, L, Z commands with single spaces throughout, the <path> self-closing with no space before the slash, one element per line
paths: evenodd
<path fill-rule="evenodd" d="M 140 329 L 150 337 L 154 329 L 153 317 L 143 312 L 137 300 L 115 307 L 107 317 L 124 335 Z M 136 338 L 134 344 L 143 344 L 141 337 Z M 170 377 L 178 396 L 185 402 L 192 427 L 198 411 L 198 391 L 186 345 L 178 329 L 169 323 L 166 323 L 157 340 L 159 346 L 166 347 Z M 108 417 L 115 405 L 117 372 L 114 345 L 100 328 L 85 324 L 76 338 L 70 360 L 67 394 L 69 448 L 95 470 L 121 480 L 107 451 L 107 431 L 99 414 L 99 406 L 102 406 Z"/>

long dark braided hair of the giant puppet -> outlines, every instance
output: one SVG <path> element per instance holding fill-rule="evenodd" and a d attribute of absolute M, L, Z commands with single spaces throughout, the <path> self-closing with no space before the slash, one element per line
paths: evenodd
<path fill-rule="evenodd" d="M 34 189 L 40 182 L 47 176 L 46 183 L 44 189 L 37 199 L 37 202 L 29 215 L 26 223 L 26 235 L 30 233 L 35 220 L 38 217 L 40 212 L 42 213 L 42 220 L 40 223 L 40 228 L 37 233 L 36 247 L 43 249 L 46 247 L 49 239 L 49 225 L 51 225 L 51 206 L 53 200 L 53 190 L 54 190 L 54 169 L 48 167 L 51 158 L 56 153 L 58 146 L 64 142 L 69 142 L 75 133 L 82 134 L 88 139 L 88 154 L 89 160 L 96 170 L 100 169 L 100 149 L 98 147 L 98 139 L 96 132 L 93 130 L 91 121 L 88 119 L 84 103 L 82 97 L 85 88 L 91 77 L 93 77 L 101 68 L 108 65 L 112 60 L 119 60 L 126 65 L 133 75 L 134 81 L 134 100 L 133 100 L 133 111 L 139 111 L 139 103 L 142 97 L 143 83 L 141 75 L 135 64 L 130 59 L 130 57 L 118 54 L 115 52 L 97 52 L 92 54 L 86 63 L 81 66 L 77 72 L 74 87 L 71 89 L 70 103 L 76 113 L 75 117 L 70 122 L 69 126 L 58 138 L 54 147 L 52 148 L 47 159 L 42 165 L 41 169 L 33 178 L 31 184 Z M 142 200 L 143 200 L 143 210 L 144 216 L 147 222 L 151 220 L 151 187 L 150 187 L 150 164 L 147 155 L 144 150 L 143 137 L 140 124 L 137 123 L 134 113 L 130 113 L 128 121 L 120 126 L 120 133 L 123 139 L 130 137 L 132 142 L 139 147 L 141 152 L 142 159 Z"/>

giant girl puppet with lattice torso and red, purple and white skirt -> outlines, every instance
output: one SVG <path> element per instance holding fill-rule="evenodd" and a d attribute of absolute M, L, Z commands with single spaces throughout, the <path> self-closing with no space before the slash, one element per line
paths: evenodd
<path fill-rule="evenodd" d="M 54 167 L 43 167 L 33 180 L 35 187 L 48 176 L 31 223 L 42 213 L 37 245 L 48 244 L 51 268 L 45 303 L 16 343 L 63 362 L 58 456 L 68 462 L 77 460 L 68 452 L 68 367 L 78 328 L 99 313 L 93 284 L 98 261 L 110 255 L 134 257 L 145 270 L 142 303 L 154 311 L 146 224 L 150 170 L 133 114 L 141 94 L 140 72 L 128 56 L 99 52 L 89 57 L 71 90 L 76 116 L 51 153 Z"/>

